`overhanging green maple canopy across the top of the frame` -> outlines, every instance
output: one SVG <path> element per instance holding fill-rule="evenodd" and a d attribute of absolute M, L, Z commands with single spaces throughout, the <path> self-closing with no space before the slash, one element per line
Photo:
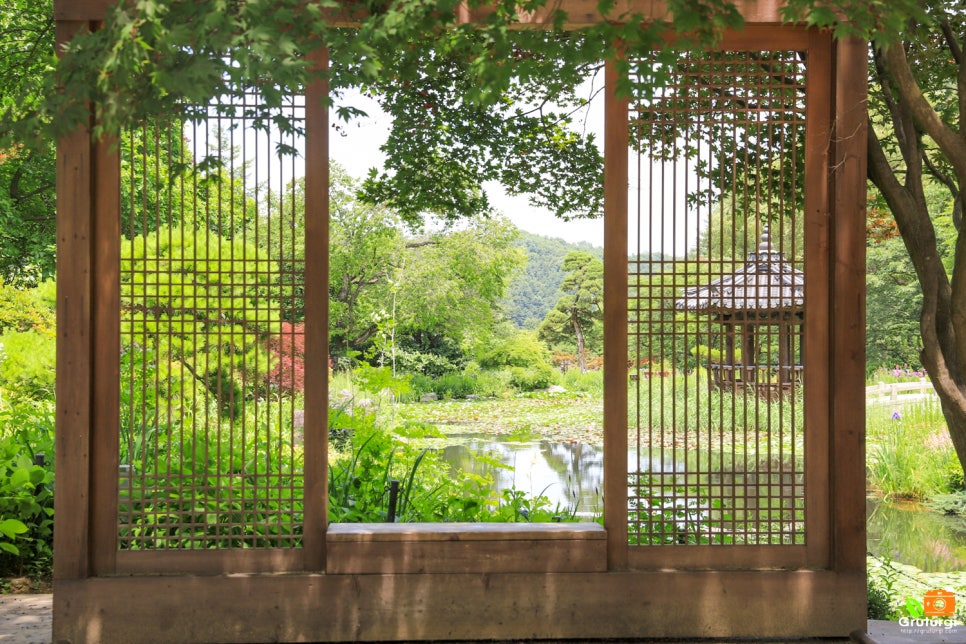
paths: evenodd
<path fill-rule="evenodd" d="M 461 24 L 464 5 L 482 17 Z M 49 140 L 86 122 L 94 103 L 96 132 L 113 134 L 157 115 L 185 115 L 186 104 L 252 94 L 260 99 L 251 108 L 260 127 L 292 131 L 301 124 L 277 108 L 325 77 L 339 118 L 360 115 L 348 98 L 358 89 L 392 116 L 386 166 L 372 172 L 364 192 L 404 218 L 488 213 L 488 180 L 561 217 L 599 216 L 600 153 L 592 136 L 572 127 L 574 110 L 593 97 L 582 84 L 601 61 L 615 58 L 617 43 L 631 55 L 658 48 L 653 74 L 639 81 L 645 87 L 631 87 L 621 70 L 620 91 L 647 92 L 661 84 L 675 49 L 706 46 L 723 29 L 740 28 L 742 19 L 731 0 L 669 0 L 670 17 L 653 22 L 600 0 L 606 21 L 568 30 L 568 16 L 553 6 L 548 0 L 119 3 L 103 28 L 71 42 L 56 73 L 24 90 L 34 100 L 7 110 L 0 131 L 8 141 Z M 519 12 L 538 10 L 545 29 L 517 27 Z M 851 22 L 838 22 L 843 12 Z M 897 31 L 918 13 L 913 0 L 792 0 L 785 7 L 789 19 L 865 37 Z M 315 53 L 323 48 L 327 67 Z"/>

